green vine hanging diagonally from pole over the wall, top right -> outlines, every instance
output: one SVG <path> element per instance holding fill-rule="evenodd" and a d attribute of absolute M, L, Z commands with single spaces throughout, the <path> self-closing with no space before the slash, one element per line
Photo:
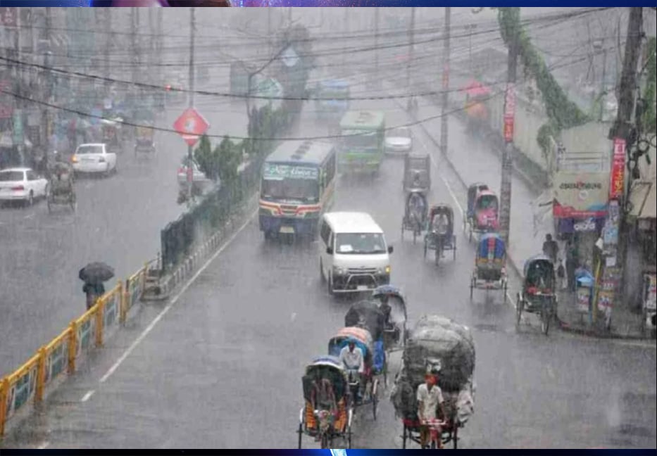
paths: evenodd
<path fill-rule="evenodd" d="M 589 116 L 568 99 L 551 75 L 542 56 L 532 46 L 529 34 L 520 24 L 520 8 L 498 8 L 498 22 L 502 39 L 507 46 L 511 44 L 514 33 L 518 33 L 518 57 L 541 91 L 549 121 L 539 129 L 537 142 L 544 153 L 547 153 L 547 135 L 556 135 L 561 129 L 582 125 L 589 120 Z"/>

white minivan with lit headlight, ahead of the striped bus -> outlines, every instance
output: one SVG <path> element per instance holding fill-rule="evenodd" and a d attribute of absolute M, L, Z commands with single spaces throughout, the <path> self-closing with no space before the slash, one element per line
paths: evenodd
<path fill-rule="evenodd" d="M 392 246 L 369 214 L 324 214 L 319 245 L 320 277 L 330 294 L 371 291 L 390 283 Z"/>

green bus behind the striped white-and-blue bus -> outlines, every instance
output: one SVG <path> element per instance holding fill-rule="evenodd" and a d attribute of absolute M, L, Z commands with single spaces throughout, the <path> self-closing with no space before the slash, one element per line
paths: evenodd
<path fill-rule="evenodd" d="M 379 171 L 385 148 L 385 114 L 382 111 L 348 111 L 340 121 L 340 135 L 340 170 Z"/>

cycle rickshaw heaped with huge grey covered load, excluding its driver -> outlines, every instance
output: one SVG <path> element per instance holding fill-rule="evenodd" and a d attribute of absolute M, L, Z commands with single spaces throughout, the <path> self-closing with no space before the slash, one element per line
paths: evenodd
<path fill-rule="evenodd" d="M 422 427 L 432 426 L 420 421 L 417 400 L 418 386 L 430 372 L 438 373 L 444 398 L 444 414 L 436 415 L 442 422 L 439 438 L 458 448 L 458 430 L 474 413 L 475 343 L 470 329 L 439 315 L 425 315 L 411 331 L 401 362 L 391 400 L 403 424 L 402 448 L 409 441 L 420 443 Z"/>

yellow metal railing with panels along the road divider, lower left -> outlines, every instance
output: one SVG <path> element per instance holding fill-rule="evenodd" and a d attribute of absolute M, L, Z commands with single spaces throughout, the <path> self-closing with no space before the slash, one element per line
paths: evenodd
<path fill-rule="evenodd" d="M 139 301 L 146 283 L 146 264 L 125 281 L 96 300 L 96 303 L 70 322 L 56 338 L 37 350 L 24 365 L 0 378 L 0 438 L 5 425 L 30 400 L 43 400 L 46 388 L 61 374 L 73 374 L 78 358 L 103 345 L 108 330 L 125 323 L 130 309 Z"/>

